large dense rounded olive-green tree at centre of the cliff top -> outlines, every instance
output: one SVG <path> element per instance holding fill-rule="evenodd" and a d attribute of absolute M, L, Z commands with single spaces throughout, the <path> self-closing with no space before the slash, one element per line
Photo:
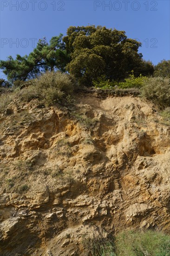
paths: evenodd
<path fill-rule="evenodd" d="M 124 31 L 101 26 L 69 27 L 63 41 L 71 55 L 66 69 L 86 86 L 101 75 L 111 81 L 123 80 L 132 69 L 135 76 L 153 74 L 152 63 L 138 53 L 141 43 L 127 38 Z"/>

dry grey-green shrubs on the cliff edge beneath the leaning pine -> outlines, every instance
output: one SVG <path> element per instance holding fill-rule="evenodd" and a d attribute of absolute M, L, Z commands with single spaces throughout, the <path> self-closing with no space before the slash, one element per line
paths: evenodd
<path fill-rule="evenodd" d="M 22 102 L 37 99 L 40 105 L 46 107 L 72 101 L 75 88 L 76 81 L 72 75 L 47 71 L 36 79 L 25 81 L 20 87 L 13 86 L 11 91 L 0 94 L 0 111 L 4 111 L 15 98 Z"/>

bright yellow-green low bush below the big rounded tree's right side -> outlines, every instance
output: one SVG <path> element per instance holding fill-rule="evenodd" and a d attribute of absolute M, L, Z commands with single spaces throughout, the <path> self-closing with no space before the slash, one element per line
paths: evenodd
<path fill-rule="evenodd" d="M 119 88 L 141 88 L 143 87 L 144 82 L 147 81 L 147 77 L 142 76 L 142 74 L 140 74 L 140 76 L 138 77 L 135 77 L 132 70 L 132 74 L 129 75 L 129 78 L 126 78 L 124 80 L 125 82 L 120 82 L 118 84 Z"/>

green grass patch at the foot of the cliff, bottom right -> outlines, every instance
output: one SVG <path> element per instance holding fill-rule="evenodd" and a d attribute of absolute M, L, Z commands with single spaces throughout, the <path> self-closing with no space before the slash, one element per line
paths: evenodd
<path fill-rule="evenodd" d="M 170 256 L 170 236 L 157 231 L 124 231 L 112 239 L 83 239 L 86 256 Z"/>

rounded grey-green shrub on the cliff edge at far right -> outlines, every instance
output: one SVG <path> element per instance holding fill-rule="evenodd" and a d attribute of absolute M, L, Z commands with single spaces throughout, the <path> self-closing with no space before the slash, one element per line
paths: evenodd
<path fill-rule="evenodd" d="M 159 108 L 170 106 L 170 79 L 151 77 L 144 81 L 141 94 L 147 100 L 155 103 Z"/>

